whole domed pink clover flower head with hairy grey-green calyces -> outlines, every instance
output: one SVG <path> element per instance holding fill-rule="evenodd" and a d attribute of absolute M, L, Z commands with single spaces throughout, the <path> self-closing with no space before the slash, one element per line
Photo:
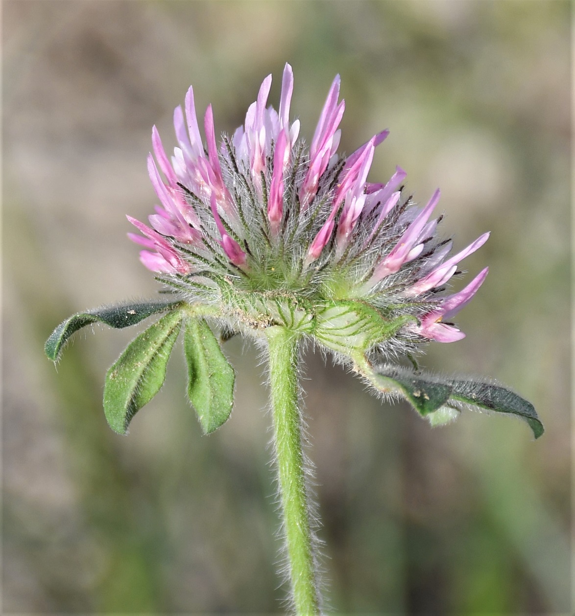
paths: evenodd
<path fill-rule="evenodd" d="M 270 86 L 271 75 L 244 125 L 219 147 L 211 105 L 202 142 L 191 87 L 184 110 L 174 111 L 171 158 L 152 129 L 148 171 L 160 205 L 149 226 L 128 217 L 143 234 L 130 234 L 145 248 L 143 264 L 234 329 L 288 326 L 348 357 L 396 356 L 429 340 L 463 338 L 450 318 L 473 298 L 487 268 L 458 293 L 447 293 L 447 285 L 489 233 L 449 256 L 452 241 L 437 235 L 441 216 L 432 218 L 439 190 L 421 208 L 406 195 L 400 167 L 387 182 L 368 182 L 389 131 L 349 156 L 337 152 L 345 108 L 339 76 L 309 147 L 299 121 L 290 121 L 289 64 L 279 111 L 268 106 Z"/>

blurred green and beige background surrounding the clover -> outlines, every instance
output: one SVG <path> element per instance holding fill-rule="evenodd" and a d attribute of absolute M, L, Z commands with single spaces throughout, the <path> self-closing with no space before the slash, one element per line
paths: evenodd
<path fill-rule="evenodd" d="M 194 85 L 199 115 L 242 123 L 272 72 L 294 68 L 311 139 L 342 76 L 342 149 L 391 135 L 395 164 L 444 233 L 485 264 L 429 346 L 435 371 L 497 376 L 547 432 L 467 413 L 431 429 L 308 352 L 310 455 L 328 607 L 354 614 L 569 614 L 571 5 L 563 1 L 3 2 L 4 607 L 9 613 L 266 613 L 282 609 L 270 417 L 255 349 L 233 339 L 230 421 L 202 437 L 181 353 L 130 436 L 105 424 L 107 367 L 133 331 L 77 335 L 73 312 L 158 286 L 126 240 L 145 220 L 152 124 L 167 150 Z M 470 278 L 468 278 L 469 280 Z M 327 365 L 326 365 L 327 364 Z"/>

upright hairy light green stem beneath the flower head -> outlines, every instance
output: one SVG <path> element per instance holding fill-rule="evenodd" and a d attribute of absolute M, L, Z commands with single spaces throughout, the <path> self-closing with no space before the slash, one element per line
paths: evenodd
<path fill-rule="evenodd" d="M 270 389 L 279 494 L 296 614 L 319 612 L 312 533 L 302 453 L 302 417 L 297 385 L 298 336 L 281 326 L 266 330 L 270 344 Z"/>

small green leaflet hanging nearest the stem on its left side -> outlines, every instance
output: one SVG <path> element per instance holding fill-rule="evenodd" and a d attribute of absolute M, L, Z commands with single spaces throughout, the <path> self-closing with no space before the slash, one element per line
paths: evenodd
<path fill-rule="evenodd" d="M 236 375 L 203 319 L 188 318 L 184 333 L 188 362 L 188 397 L 205 434 L 230 416 Z"/>

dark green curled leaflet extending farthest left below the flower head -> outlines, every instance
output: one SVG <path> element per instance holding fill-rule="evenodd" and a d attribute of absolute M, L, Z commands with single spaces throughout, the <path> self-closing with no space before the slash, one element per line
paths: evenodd
<path fill-rule="evenodd" d="M 173 299 L 170 301 L 130 302 L 120 306 L 105 306 L 86 310 L 86 312 L 78 312 L 72 317 L 68 317 L 64 323 L 60 323 L 52 331 L 51 336 L 46 341 L 44 351 L 46 351 L 49 359 L 55 362 L 70 336 L 90 323 L 105 323 L 105 325 L 119 330 L 123 327 L 136 325 L 144 318 L 151 317 L 152 314 L 166 312 L 180 304 L 180 301 L 173 301 Z"/>

